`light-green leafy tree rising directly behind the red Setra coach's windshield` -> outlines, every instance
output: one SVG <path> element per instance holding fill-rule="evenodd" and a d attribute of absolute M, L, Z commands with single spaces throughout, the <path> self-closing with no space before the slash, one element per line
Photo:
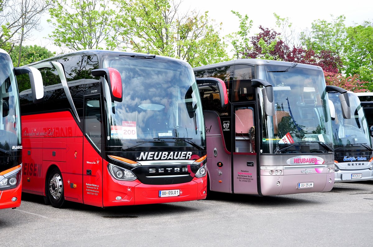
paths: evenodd
<path fill-rule="evenodd" d="M 189 62 L 193 67 L 228 59 L 226 44 L 207 12 L 181 13 L 180 1 L 113 0 L 118 15 L 112 23 L 118 35 L 111 47 L 130 49 Z"/>

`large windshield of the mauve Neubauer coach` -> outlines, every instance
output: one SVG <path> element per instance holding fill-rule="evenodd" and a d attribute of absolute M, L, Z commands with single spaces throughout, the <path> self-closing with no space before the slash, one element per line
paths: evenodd
<path fill-rule="evenodd" d="M 258 78 L 272 84 L 275 101 L 273 116 L 265 114 L 261 103 L 263 153 L 331 152 L 333 143 L 323 72 L 299 65 L 286 71 L 287 68 L 289 66 L 258 66 Z"/>

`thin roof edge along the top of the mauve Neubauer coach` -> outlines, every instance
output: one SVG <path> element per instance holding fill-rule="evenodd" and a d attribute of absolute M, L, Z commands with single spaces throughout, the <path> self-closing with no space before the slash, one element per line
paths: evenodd
<path fill-rule="evenodd" d="M 224 66 L 229 66 L 229 65 L 234 65 L 234 64 L 247 64 L 247 65 L 282 65 L 282 66 L 291 66 L 294 64 L 294 62 L 285 62 L 285 61 L 275 61 L 275 60 L 263 60 L 263 59 L 254 59 L 254 58 L 244 58 L 244 59 L 236 59 L 236 60 L 231 60 L 227 62 L 219 62 L 216 64 L 209 64 L 209 65 L 204 65 L 200 67 L 195 67 L 193 70 L 198 71 L 198 70 L 206 70 L 209 68 L 216 68 L 216 67 L 224 67 Z M 298 63 L 297 68 L 309 68 L 309 69 L 314 69 L 314 70 L 321 70 L 322 68 L 319 66 L 315 65 L 310 65 L 310 64 L 300 64 Z"/>

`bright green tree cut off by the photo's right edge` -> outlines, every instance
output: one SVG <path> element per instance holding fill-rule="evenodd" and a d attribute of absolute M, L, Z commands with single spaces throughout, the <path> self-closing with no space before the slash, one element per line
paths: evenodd
<path fill-rule="evenodd" d="M 366 21 L 362 25 L 347 28 L 344 52 L 346 54 L 345 73 L 349 76 L 358 74 L 361 80 L 373 82 L 372 22 Z"/>

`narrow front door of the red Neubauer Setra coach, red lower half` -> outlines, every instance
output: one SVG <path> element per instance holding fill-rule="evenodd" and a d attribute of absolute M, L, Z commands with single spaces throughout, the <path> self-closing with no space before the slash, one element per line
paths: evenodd
<path fill-rule="evenodd" d="M 103 128 L 100 95 L 84 97 L 83 201 L 103 206 Z"/>

